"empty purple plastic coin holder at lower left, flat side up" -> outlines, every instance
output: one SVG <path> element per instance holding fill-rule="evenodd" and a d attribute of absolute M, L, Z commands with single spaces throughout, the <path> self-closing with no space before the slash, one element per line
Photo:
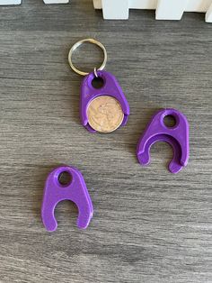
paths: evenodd
<path fill-rule="evenodd" d="M 61 173 L 70 174 L 71 181 L 67 185 L 61 185 L 59 176 Z M 93 204 L 88 194 L 82 173 L 74 167 L 62 166 L 49 173 L 44 188 L 41 218 L 49 232 L 57 229 L 57 220 L 54 215 L 56 205 L 63 200 L 70 200 L 78 208 L 77 226 L 85 229 L 93 217 Z"/>

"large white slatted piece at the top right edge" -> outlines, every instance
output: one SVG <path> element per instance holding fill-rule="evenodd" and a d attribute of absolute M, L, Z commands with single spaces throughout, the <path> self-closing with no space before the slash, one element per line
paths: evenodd
<path fill-rule="evenodd" d="M 153 9 L 157 20 L 181 20 L 184 12 L 199 12 L 212 23 L 212 0 L 93 0 L 93 5 L 106 20 L 126 20 L 129 9 Z"/>

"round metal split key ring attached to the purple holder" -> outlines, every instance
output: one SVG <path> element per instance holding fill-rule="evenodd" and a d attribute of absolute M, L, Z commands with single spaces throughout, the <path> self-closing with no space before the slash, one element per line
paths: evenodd
<path fill-rule="evenodd" d="M 107 51 L 106 51 L 105 47 L 103 46 L 103 44 L 100 41 L 96 41 L 96 40 L 93 40 L 93 39 L 85 39 L 85 40 L 82 40 L 82 41 L 75 42 L 75 44 L 69 50 L 68 62 L 69 62 L 70 67 L 75 71 L 75 73 L 77 73 L 77 74 L 79 74 L 81 76 L 87 76 L 89 73 L 83 72 L 83 71 L 79 70 L 78 68 L 75 68 L 75 66 L 74 66 L 74 64 L 72 62 L 72 56 L 73 56 L 75 50 L 78 47 L 80 47 L 84 42 L 93 43 L 93 44 L 97 45 L 98 47 L 100 47 L 102 49 L 102 51 L 103 51 L 104 59 L 103 59 L 102 65 L 99 68 L 94 68 L 95 73 L 96 73 L 96 70 L 102 70 L 106 66 L 107 59 L 108 59 Z"/>

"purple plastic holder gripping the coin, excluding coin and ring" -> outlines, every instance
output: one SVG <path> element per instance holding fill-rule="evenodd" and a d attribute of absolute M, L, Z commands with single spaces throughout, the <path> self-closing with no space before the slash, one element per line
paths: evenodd
<path fill-rule="evenodd" d="M 119 86 L 117 79 L 109 72 L 103 70 L 98 70 L 97 76 L 103 79 L 103 86 L 101 88 L 93 87 L 92 82 L 93 78 L 95 78 L 93 72 L 84 77 L 81 85 L 80 116 L 82 124 L 89 132 L 96 132 L 88 122 L 88 105 L 97 96 L 112 96 L 116 98 L 121 105 L 124 119 L 120 126 L 124 126 L 128 121 L 129 105 L 126 97 L 122 92 L 121 87 Z"/>

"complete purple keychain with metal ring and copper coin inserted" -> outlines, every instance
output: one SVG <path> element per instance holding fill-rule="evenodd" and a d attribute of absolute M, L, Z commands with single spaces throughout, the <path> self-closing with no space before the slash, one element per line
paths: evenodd
<path fill-rule="evenodd" d="M 99 46 L 104 53 L 102 66 L 86 73 L 75 68 L 72 62 L 74 51 L 84 42 Z M 117 79 L 109 72 L 103 71 L 107 62 L 107 52 L 101 42 L 93 39 L 78 41 L 68 54 L 70 67 L 84 77 L 81 85 L 80 117 L 81 123 L 89 132 L 113 132 L 128 121 L 129 106 Z M 95 87 L 94 83 L 101 83 Z"/>

